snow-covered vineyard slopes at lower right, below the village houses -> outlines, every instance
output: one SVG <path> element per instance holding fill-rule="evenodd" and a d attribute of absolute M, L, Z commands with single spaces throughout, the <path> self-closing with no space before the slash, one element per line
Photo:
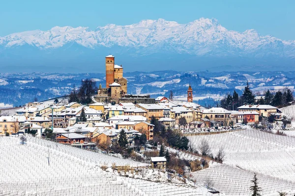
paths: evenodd
<path fill-rule="evenodd" d="M 250 195 L 250 180 L 258 174 L 263 195 L 295 194 L 295 138 L 246 129 L 222 134 L 190 136 L 198 149 L 206 140 L 213 155 L 225 152 L 224 164 L 192 172 L 199 182 L 210 179 L 213 188 L 226 195 Z M 229 187 L 230 186 L 230 187 Z"/>

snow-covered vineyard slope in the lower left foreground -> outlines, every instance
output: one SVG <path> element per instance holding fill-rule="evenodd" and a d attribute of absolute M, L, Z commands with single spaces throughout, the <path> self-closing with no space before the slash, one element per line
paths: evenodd
<path fill-rule="evenodd" d="M 116 176 L 99 166 L 145 167 L 120 159 L 29 137 L 0 137 L 0 195 L 2 196 L 203 196 L 204 187 L 187 188 Z"/>

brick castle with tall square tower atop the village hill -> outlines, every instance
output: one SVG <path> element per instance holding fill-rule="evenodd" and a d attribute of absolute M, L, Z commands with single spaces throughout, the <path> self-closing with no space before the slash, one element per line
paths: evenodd
<path fill-rule="evenodd" d="M 127 93 L 127 79 L 123 77 L 122 66 L 115 65 L 113 55 L 106 56 L 106 88 L 98 89 L 98 96 L 118 100 Z"/>

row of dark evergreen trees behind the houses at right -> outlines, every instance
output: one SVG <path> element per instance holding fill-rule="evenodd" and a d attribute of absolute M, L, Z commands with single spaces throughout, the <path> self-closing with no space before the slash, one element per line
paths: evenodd
<path fill-rule="evenodd" d="M 220 106 L 227 110 L 236 110 L 239 106 L 244 104 L 272 105 L 281 108 L 290 105 L 293 100 L 293 93 L 288 88 L 283 91 L 277 91 L 275 94 L 272 94 L 269 90 L 267 90 L 260 99 L 255 100 L 255 96 L 250 90 L 247 82 L 241 96 L 234 91 L 233 95 L 228 94 L 220 100 Z"/>

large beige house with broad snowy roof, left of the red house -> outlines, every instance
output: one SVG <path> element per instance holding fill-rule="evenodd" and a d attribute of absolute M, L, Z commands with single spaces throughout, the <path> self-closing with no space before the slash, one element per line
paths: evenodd
<path fill-rule="evenodd" d="M 212 107 L 202 111 L 202 117 L 216 122 L 220 126 L 230 126 L 233 122 L 231 112 L 222 107 Z"/>

